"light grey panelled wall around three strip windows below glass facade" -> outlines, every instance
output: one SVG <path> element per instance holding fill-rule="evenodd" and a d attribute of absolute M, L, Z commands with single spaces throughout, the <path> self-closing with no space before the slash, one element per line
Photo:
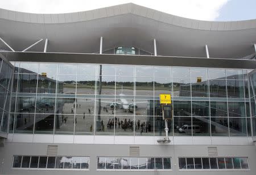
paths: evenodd
<path fill-rule="evenodd" d="M 52 145 L 52 144 L 51 144 Z M 138 145 L 140 157 L 172 157 L 172 170 L 162 172 L 148 171 L 112 171 L 97 170 L 97 156 L 130 156 L 130 145 L 118 144 L 54 144 L 58 145 L 60 156 L 90 156 L 88 171 L 72 170 L 22 170 L 12 169 L 13 155 L 46 155 L 47 143 L 11 143 L 6 142 L 0 147 L 0 174 L 256 174 L 255 146 L 222 146 L 218 145 L 218 157 L 248 157 L 249 170 L 179 170 L 177 157 L 209 157 L 207 145 Z M 134 146 L 134 145 L 133 145 Z"/>

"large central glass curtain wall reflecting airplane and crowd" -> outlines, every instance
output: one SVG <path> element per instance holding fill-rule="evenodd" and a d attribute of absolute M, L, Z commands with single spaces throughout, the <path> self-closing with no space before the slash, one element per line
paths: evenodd
<path fill-rule="evenodd" d="M 15 62 L 10 132 L 250 136 L 247 70 Z M 14 130 L 11 130 L 14 129 Z"/>

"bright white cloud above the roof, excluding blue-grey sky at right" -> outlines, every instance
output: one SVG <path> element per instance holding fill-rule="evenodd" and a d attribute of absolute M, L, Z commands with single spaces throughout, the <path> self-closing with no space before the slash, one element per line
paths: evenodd
<path fill-rule="evenodd" d="M 64 13 L 136 3 L 168 14 L 199 20 L 214 20 L 229 0 L 0 0 L 0 8 L 32 13 Z"/>

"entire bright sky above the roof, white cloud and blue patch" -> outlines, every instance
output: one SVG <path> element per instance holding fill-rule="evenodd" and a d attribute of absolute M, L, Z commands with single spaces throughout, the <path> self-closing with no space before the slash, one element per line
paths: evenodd
<path fill-rule="evenodd" d="M 93 10 L 129 2 L 191 19 L 223 21 L 256 18 L 256 0 L 0 0 L 0 8 L 56 14 Z"/>

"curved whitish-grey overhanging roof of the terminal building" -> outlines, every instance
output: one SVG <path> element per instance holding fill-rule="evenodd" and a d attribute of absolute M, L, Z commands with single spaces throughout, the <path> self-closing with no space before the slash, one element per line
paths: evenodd
<path fill-rule="evenodd" d="M 256 20 L 207 22 L 127 3 L 69 14 L 28 14 L 0 9 L 0 37 L 15 51 L 48 39 L 47 52 L 95 53 L 133 45 L 161 56 L 241 58 L 254 54 Z M 2 42 L 1 49 L 9 50 Z M 27 51 L 42 52 L 44 42 Z"/>

